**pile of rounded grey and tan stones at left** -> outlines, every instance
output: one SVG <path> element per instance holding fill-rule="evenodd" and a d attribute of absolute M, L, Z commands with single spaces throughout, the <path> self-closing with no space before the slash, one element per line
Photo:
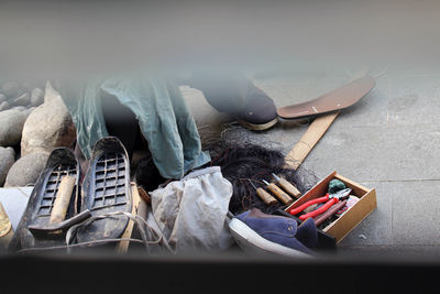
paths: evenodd
<path fill-rule="evenodd" d="M 46 83 L 0 85 L 0 187 L 34 184 L 48 154 L 72 148 L 75 126 L 59 94 Z"/>

